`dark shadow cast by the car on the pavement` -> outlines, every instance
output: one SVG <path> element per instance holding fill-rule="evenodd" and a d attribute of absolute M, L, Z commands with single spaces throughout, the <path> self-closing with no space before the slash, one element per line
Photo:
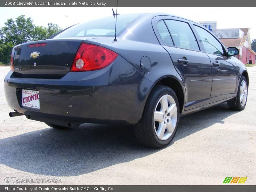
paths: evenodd
<path fill-rule="evenodd" d="M 180 118 L 173 142 L 237 111 L 221 104 Z M 46 128 L 0 140 L 0 163 L 51 176 L 76 176 L 157 153 L 134 138 L 131 126 L 83 124 L 77 129 Z"/>

